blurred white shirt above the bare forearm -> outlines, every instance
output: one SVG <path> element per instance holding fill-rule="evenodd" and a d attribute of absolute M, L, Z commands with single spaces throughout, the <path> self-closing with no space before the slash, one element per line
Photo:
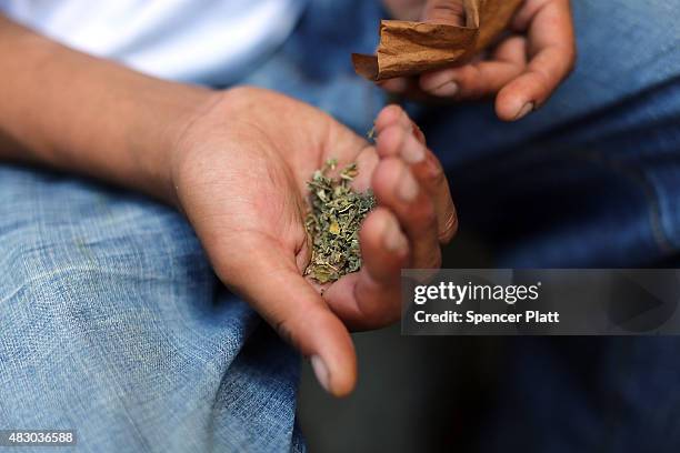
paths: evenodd
<path fill-rule="evenodd" d="M 304 1 L 0 0 L 0 11 L 149 74 L 223 84 L 289 36 Z"/>

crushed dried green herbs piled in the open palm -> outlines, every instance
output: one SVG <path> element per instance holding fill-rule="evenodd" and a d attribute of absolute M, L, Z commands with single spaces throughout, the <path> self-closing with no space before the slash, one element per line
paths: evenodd
<path fill-rule="evenodd" d="M 329 172 L 337 165 L 334 159 L 329 160 L 307 183 L 311 212 L 306 226 L 312 240 L 312 255 L 304 273 L 319 283 L 334 282 L 361 269 L 359 229 L 376 205 L 370 190 L 358 193 L 350 185 L 359 174 L 357 164 L 347 165 L 339 177 L 332 178 Z"/>

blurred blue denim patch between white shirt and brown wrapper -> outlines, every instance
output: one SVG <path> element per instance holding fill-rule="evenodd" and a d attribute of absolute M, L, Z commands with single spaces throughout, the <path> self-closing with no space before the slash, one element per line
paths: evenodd
<path fill-rule="evenodd" d="M 366 134 L 387 97 L 357 77 L 350 56 L 374 52 L 381 17 L 379 0 L 308 0 L 296 33 L 240 83 L 309 102 Z"/>

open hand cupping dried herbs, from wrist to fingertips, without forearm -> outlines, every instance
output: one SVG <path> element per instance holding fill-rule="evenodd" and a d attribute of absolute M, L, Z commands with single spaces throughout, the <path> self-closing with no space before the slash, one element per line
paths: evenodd
<path fill-rule="evenodd" d="M 219 278 L 310 356 L 321 384 L 348 394 L 357 365 L 350 329 L 400 315 L 400 269 L 438 268 L 456 232 L 447 180 L 419 129 L 398 107 L 382 111 L 370 145 L 329 115 L 252 88 L 217 94 L 172 151 L 177 203 Z M 361 231 L 363 268 L 321 289 L 310 259 L 306 200 L 329 158 L 359 165 L 354 188 L 379 207 Z"/>

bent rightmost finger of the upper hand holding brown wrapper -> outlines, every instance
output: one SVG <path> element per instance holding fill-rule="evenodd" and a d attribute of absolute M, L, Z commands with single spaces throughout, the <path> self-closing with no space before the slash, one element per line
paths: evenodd
<path fill-rule="evenodd" d="M 527 69 L 498 94 L 496 110 L 502 120 L 519 120 L 543 104 L 571 72 L 576 42 L 568 0 L 528 0 L 516 18 L 528 29 Z"/>

